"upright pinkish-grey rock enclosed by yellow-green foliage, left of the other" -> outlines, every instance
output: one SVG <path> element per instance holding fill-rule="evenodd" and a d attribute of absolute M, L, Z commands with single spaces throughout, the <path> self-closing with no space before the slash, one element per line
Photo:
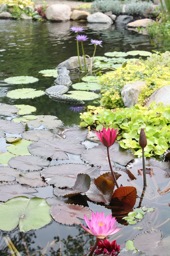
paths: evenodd
<path fill-rule="evenodd" d="M 125 84 L 121 91 L 121 97 L 125 107 L 130 108 L 130 106 L 138 103 L 137 98 L 143 85 L 146 85 L 144 81 L 136 81 L 131 84 Z"/>

